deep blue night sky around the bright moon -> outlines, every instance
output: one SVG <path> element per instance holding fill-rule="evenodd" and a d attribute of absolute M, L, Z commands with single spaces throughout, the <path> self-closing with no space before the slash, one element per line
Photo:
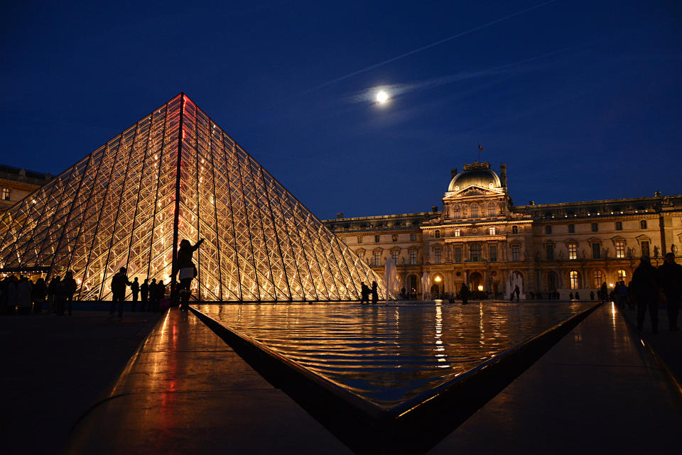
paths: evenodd
<path fill-rule="evenodd" d="M 478 143 L 516 204 L 682 193 L 679 1 L 60 3 L 4 6 L 1 163 L 185 92 L 323 219 L 440 207 Z"/>

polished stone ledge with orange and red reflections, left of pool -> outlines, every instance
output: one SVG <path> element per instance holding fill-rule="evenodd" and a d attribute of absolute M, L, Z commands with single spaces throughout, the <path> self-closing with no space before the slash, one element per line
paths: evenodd
<path fill-rule="evenodd" d="M 67 454 L 352 454 L 193 314 L 171 309 Z"/>

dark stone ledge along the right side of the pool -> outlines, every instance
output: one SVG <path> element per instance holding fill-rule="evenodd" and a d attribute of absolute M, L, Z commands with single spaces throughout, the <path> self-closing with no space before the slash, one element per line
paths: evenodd
<path fill-rule="evenodd" d="M 429 455 L 677 451 L 679 390 L 602 305 Z"/>

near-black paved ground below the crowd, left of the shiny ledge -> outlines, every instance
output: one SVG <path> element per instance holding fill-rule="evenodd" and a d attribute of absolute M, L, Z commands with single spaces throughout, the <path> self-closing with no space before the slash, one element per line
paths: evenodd
<path fill-rule="evenodd" d="M 107 314 L 0 317 L 2 454 L 60 454 L 160 316 L 127 313 L 119 322 Z"/>

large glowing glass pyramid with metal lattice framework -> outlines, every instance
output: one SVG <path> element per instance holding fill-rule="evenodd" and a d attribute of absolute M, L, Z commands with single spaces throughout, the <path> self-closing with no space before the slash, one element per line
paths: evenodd
<path fill-rule="evenodd" d="M 168 283 L 178 243 L 195 252 L 193 294 L 243 302 L 359 299 L 372 271 L 296 197 L 179 94 L 0 220 L 0 268 L 74 272 L 104 300 L 120 267 Z"/>

